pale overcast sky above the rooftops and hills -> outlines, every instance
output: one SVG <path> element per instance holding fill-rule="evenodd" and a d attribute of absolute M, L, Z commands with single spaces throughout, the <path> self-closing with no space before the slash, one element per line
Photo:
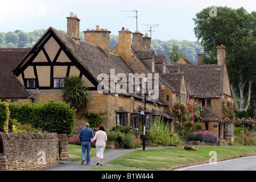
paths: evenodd
<path fill-rule="evenodd" d="M 194 35 L 195 14 L 209 6 L 244 7 L 255 11 L 256 1 L 248 0 L 8 0 L 0 3 L 0 32 L 22 30 L 31 32 L 50 26 L 66 31 L 66 17 L 72 12 L 80 21 L 80 31 L 86 28 L 108 28 L 118 35 L 122 27 L 136 30 L 135 11 L 138 11 L 138 31 L 152 39 L 197 41 Z M 131 16 L 131 17 L 127 17 Z"/>

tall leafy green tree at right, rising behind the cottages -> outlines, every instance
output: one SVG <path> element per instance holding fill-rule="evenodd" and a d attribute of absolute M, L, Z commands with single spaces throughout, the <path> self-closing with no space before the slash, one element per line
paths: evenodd
<path fill-rule="evenodd" d="M 209 55 L 203 61 L 216 64 L 216 47 L 221 44 L 226 46 L 226 64 L 235 106 L 239 111 L 246 111 L 250 106 L 251 88 L 256 76 L 256 16 L 255 13 L 247 13 L 243 7 L 237 10 L 216 7 L 217 16 L 210 16 L 212 9 L 203 9 L 193 19 L 195 36 L 201 40 L 202 47 Z M 245 97 L 247 101 L 244 105 Z"/>

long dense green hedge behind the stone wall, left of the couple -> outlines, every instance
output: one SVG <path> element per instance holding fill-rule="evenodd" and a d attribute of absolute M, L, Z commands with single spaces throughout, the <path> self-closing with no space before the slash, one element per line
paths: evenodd
<path fill-rule="evenodd" d="M 75 109 L 66 102 L 50 100 L 43 104 L 10 104 L 10 118 L 17 119 L 22 125 L 31 124 L 49 133 L 71 134 L 75 126 Z"/>

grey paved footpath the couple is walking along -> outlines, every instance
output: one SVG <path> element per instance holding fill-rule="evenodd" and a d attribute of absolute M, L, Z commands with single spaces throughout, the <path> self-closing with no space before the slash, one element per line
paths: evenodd
<path fill-rule="evenodd" d="M 146 148 L 149 149 L 149 148 Z M 110 160 L 119 158 L 123 155 L 126 155 L 135 150 L 142 150 L 142 148 L 137 149 L 123 149 L 123 150 L 108 150 L 104 153 L 103 156 L 103 165 L 109 166 L 110 164 L 106 164 Z M 90 164 L 86 165 L 86 162 L 82 165 L 81 161 L 79 162 L 70 162 L 65 160 L 59 160 L 59 164 L 55 166 L 51 166 L 48 168 L 43 168 L 41 171 L 87 171 L 89 168 L 97 167 L 97 157 L 90 158 Z"/>

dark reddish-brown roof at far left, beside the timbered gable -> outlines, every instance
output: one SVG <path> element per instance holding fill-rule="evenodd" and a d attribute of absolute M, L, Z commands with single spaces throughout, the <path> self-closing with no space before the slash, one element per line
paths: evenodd
<path fill-rule="evenodd" d="M 31 98 L 12 73 L 29 51 L 26 48 L 0 48 L 0 98 Z"/>

